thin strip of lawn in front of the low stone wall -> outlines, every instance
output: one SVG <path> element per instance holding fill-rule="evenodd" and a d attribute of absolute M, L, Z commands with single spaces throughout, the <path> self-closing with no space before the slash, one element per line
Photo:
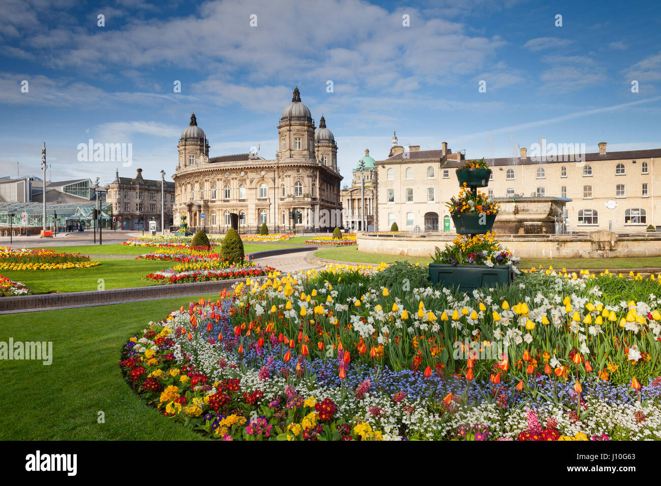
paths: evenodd
<path fill-rule="evenodd" d="M 323 248 L 315 251 L 315 257 L 340 260 L 348 262 L 364 262 L 364 263 L 393 263 L 395 261 L 409 261 L 412 263 L 427 264 L 430 263 L 430 257 L 406 257 L 405 255 L 385 255 L 383 253 L 368 253 L 366 251 L 358 251 L 358 247 L 336 247 L 336 248 Z M 539 266 L 549 268 L 621 268 L 623 270 L 629 268 L 644 268 L 648 266 L 661 267 L 661 257 L 646 257 L 646 258 L 615 258 L 615 259 L 522 259 L 520 268 L 531 268 Z"/>

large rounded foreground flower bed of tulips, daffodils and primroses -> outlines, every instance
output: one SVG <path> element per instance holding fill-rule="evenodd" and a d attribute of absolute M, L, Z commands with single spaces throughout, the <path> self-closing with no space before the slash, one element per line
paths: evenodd
<path fill-rule="evenodd" d="M 463 295 L 329 270 L 150 323 L 128 382 L 225 440 L 661 438 L 656 280 L 549 269 Z"/>

